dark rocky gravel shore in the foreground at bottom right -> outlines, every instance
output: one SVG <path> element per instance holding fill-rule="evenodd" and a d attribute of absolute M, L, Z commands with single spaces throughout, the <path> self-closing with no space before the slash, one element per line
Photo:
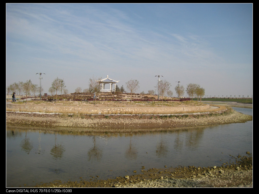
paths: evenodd
<path fill-rule="evenodd" d="M 101 188 L 252 188 L 253 157 L 232 157 L 235 162 L 216 167 L 152 168 L 142 174 L 117 177 L 115 179 L 52 182 L 35 187 L 101 187 Z"/>

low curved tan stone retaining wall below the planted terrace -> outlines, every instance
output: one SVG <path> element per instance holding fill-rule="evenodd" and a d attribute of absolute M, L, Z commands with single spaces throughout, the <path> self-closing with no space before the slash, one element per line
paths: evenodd
<path fill-rule="evenodd" d="M 173 114 L 178 112 L 209 109 L 210 105 L 180 106 L 180 107 L 87 107 L 87 106 L 45 106 L 6 103 L 6 108 L 12 111 L 26 112 L 59 112 L 84 114 Z"/>

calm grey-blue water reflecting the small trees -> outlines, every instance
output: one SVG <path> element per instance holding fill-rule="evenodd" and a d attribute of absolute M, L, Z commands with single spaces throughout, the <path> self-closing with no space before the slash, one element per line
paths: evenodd
<path fill-rule="evenodd" d="M 252 109 L 234 108 L 252 115 Z M 6 126 L 6 187 L 114 178 L 148 168 L 214 166 L 253 153 L 253 121 L 180 131 L 73 134 Z"/>

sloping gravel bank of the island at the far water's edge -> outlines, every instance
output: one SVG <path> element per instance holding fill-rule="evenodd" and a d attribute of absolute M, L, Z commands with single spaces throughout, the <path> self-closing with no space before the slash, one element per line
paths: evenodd
<path fill-rule="evenodd" d="M 252 120 L 232 109 L 223 111 L 175 114 L 175 115 L 69 115 L 58 113 L 6 112 L 6 123 L 35 127 L 71 128 L 77 131 L 147 130 L 159 128 L 207 126 L 226 123 L 241 123 Z"/>

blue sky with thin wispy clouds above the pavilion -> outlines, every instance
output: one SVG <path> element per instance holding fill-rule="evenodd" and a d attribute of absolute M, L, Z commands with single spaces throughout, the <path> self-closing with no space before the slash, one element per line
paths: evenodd
<path fill-rule="evenodd" d="M 253 95 L 253 4 L 6 4 L 6 87 L 49 93 L 64 79 L 69 93 L 90 78 L 137 92 L 158 78 L 199 84 L 205 96 Z M 107 89 L 107 88 L 106 88 Z M 186 94 L 185 94 L 186 95 Z"/>

